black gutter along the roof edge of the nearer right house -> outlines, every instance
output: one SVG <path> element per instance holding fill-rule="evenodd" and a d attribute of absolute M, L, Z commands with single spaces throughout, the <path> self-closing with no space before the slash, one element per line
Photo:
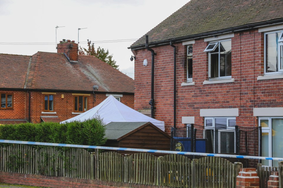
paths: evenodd
<path fill-rule="evenodd" d="M 171 41 L 177 42 L 177 41 L 206 37 L 208 35 L 216 35 L 216 34 L 219 34 L 219 33 L 233 32 L 233 31 L 236 31 L 236 30 L 246 30 L 246 29 L 251 29 L 251 28 L 258 27 L 258 26 L 275 24 L 275 23 L 279 23 L 279 22 L 283 22 L 283 19 L 273 20 L 273 21 L 265 21 L 265 22 L 260 22 L 260 23 L 256 23 L 256 24 L 248 24 L 248 25 L 244 25 L 244 26 L 238 26 L 238 27 L 223 29 L 223 30 L 219 30 L 219 31 L 212 31 L 212 32 L 208 32 L 208 33 L 195 34 L 195 35 L 186 36 L 186 37 L 172 38 L 172 39 L 167 39 L 167 40 L 164 40 L 164 41 L 153 42 L 153 43 L 150 43 L 150 45 L 154 46 L 154 45 L 159 45 L 159 44 L 164 44 L 164 43 L 170 43 Z M 142 48 L 142 47 L 144 47 L 144 44 L 140 44 L 138 46 L 130 46 L 130 47 L 128 47 L 128 49 L 134 50 L 136 48 Z"/>

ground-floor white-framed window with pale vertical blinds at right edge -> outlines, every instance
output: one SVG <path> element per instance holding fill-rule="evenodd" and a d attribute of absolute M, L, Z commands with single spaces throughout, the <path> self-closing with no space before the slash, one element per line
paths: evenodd
<path fill-rule="evenodd" d="M 259 117 L 263 157 L 283 156 L 283 117 Z M 262 165 L 278 167 L 278 161 L 262 160 Z"/>

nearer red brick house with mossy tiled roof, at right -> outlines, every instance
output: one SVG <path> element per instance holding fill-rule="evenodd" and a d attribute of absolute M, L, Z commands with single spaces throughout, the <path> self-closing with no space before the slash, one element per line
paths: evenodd
<path fill-rule="evenodd" d="M 135 110 L 164 121 L 167 133 L 190 124 L 261 125 L 262 156 L 283 157 L 282 10 L 280 0 L 185 4 L 129 47 L 136 56 Z M 215 153 L 221 144 L 236 148 L 230 136 L 213 136 Z"/>

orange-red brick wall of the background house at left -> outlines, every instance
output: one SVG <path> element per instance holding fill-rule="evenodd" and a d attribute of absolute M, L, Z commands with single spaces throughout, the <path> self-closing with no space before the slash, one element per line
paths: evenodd
<path fill-rule="evenodd" d="M 29 120 L 29 93 L 27 91 L 1 90 L 0 93 L 13 94 L 13 109 L 0 109 L 0 119 L 25 119 Z M 54 112 L 56 114 L 46 113 L 44 111 L 44 94 L 42 92 L 30 91 L 30 119 L 32 123 L 40 123 L 40 116 L 58 116 L 61 121 L 75 117 L 74 113 L 74 95 L 67 92 L 55 92 Z M 64 98 L 62 98 L 64 95 Z M 91 93 L 88 97 L 88 109 L 91 109 L 106 99 L 105 93 L 97 93 L 96 101 Z M 121 102 L 130 108 L 134 108 L 134 95 L 125 95 L 120 98 Z M 42 113 L 43 112 L 43 113 Z"/>

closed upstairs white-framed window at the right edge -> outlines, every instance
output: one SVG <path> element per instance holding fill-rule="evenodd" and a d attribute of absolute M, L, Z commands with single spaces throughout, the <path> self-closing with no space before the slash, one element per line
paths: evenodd
<path fill-rule="evenodd" d="M 264 33 L 264 75 L 283 74 L 283 31 Z"/>

